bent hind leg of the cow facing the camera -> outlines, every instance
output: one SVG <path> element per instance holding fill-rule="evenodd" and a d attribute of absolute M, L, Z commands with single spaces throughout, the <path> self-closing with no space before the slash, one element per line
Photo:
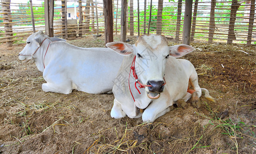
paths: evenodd
<path fill-rule="evenodd" d="M 198 85 L 198 78 L 197 78 L 197 73 L 196 73 L 195 70 L 190 75 L 189 83 L 193 87 L 193 89 L 195 90 L 195 92 L 192 93 L 192 97 L 191 97 L 192 105 L 196 108 L 199 108 L 201 106 L 199 98 L 202 95 L 202 90 Z"/>

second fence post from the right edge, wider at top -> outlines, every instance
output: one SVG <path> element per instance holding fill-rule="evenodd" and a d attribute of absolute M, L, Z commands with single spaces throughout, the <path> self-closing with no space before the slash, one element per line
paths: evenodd
<path fill-rule="evenodd" d="M 233 40 L 236 40 L 235 33 L 234 33 L 234 24 L 235 24 L 235 20 L 236 20 L 236 11 L 240 7 L 240 5 L 241 5 L 241 3 L 238 3 L 237 0 L 232 0 L 229 27 L 228 27 L 227 44 L 232 44 Z"/>

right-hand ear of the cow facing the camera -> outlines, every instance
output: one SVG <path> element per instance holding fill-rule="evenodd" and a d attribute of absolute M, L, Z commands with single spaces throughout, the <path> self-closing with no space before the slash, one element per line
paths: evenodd
<path fill-rule="evenodd" d="M 173 57 L 184 56 L 185 54 L 188 54 L 195 49 L 195 48 L 185 45 L 185 44 L 175 45 L 175 46 L 171 46 L 169 48 L 170 48 L 170 55 Z"/>

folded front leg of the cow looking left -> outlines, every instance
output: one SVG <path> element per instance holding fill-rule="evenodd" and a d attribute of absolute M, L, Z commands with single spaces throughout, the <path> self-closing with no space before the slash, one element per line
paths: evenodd
<path fill-rule="evenodd" d="M 58 93 L 64 93 L 68 94 L 72 91 L 71 85 L 70 84 L 52 84 L 52 83 L 44 83 L 42 84 L 42 89 L 45 92 L 58 92 Z"/>

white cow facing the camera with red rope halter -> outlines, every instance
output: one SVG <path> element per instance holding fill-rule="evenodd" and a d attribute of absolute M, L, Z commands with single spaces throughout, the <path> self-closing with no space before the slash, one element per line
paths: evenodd
<path fill-rule="evenodd" d="M 113 87 L 115 100 L 111 117 L 142 116 L 143 122 L 154 122 L 169 112 L 170 106 L 177 100 L 184 99 L 187 102 L 191 98 L 192 104 L 198 104 L 202 90 L 205 91 L 206 98 L 213 101 L 209 91 L 199 87 L 194 66 L 187 60 L 176 59 L 192 52 L 193 47 L 169 47 L 162 35 L 141 35 L 135 45 L 112 42 L 106 46 L 126 55 Z M 136 89 L 138 83 L 145 88 Z M 192 94 L 188 92 L 191 91 L 188 90 L 190 86 L 193 87 Z"/>

